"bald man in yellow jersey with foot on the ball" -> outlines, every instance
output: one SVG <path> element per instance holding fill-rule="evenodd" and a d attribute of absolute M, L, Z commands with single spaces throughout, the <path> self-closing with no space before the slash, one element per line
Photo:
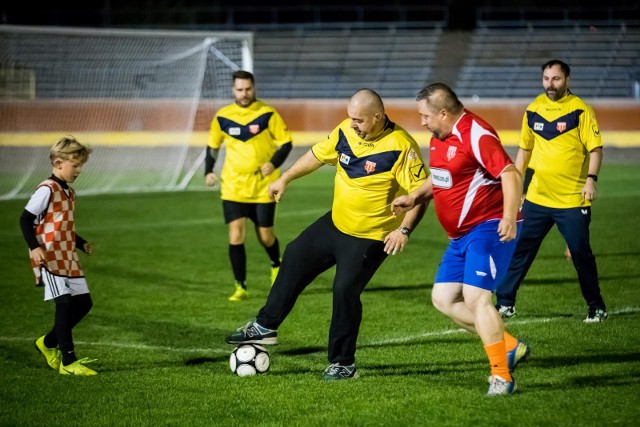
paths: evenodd
<path fill-rule="evenodd" d="M 269 185 L 280 200 L 287 184 L 322 165 L 336 167 L 333 207 L 289 243 L 267 302 L 256 319 L 227 338 L 230 344 L 277 344 L 277 329 L 302 291 L 336 267 L 325 380 L 357 378 L 360 294 L 389 254 L 403 250 L 426 209 L 419 204 L 394 216 L 391 201 L 427 178 L 416 141 L 384 112 L 382 99 L 361 89 L 347 106 L 349 118 Z"/>

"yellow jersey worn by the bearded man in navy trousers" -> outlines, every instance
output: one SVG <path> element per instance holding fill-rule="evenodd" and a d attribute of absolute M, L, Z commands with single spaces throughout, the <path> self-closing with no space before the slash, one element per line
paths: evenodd
<path fill-rule="evenodd" d="M 522 119 L 520 147 L 532 150 L 535 170 L 527 200 L 549 208 L 590 206 L 582 198 L 589 152 L 602 147 L 593 109 L 569 93 L 558 101 L 538 96 Z"/>

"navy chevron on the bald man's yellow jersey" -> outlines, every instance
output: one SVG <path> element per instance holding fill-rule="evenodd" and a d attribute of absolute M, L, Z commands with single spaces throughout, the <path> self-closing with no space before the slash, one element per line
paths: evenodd
<path fill-rule="evenodd" d="M 349 178 L 362 178 L 379 173 L 389 172 L 400 157 L 400 150 L 385 151 L 369 156 L 356 157 L 351 150 L 347 137 L 339 131 L 336 151 L 339 153 L 340 166 Z"/>

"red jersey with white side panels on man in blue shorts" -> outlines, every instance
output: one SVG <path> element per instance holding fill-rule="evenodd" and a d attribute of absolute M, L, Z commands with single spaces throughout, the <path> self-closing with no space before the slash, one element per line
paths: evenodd
<path fill-rule="evenodd" d="M 450 238 L 502 218 L 500 174 L 513 161 L 491 125 L 465 110 L 449 136 L 431 138 L 429 153 L 436 215 Z"/>

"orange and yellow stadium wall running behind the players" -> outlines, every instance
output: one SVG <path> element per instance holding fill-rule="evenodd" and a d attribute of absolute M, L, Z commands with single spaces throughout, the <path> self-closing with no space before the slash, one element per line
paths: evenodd
<path fill-rule="evenodd" d="M 517 145 L 522 114 L 531 100 L 462 99 L 465 106 L 485 118 L 505 145 Z M 189 102 L 189 101 L 184 101 Z M 192 145 L 206 144 L 211 118 L 229 101 L 202 101 L 192 112 Z M 346 118 L 347 100 L 273 99 L 294 136 L 295 145 L 324 138 Z M 634 100 L 588 100 L 596 111 L 605 145 L 640 146 L 640 104 Z M 29 100 L 0 101 L 0 145 L 50 145 L 61 135 L 73 134 L 93 145 L 171 145 L 184 130 L 185 106 L 180 100 Z M 429 135 L 420 126 L 415 102 L 385 100 L 391 120 L 425 145 Z M 179 112 L 179 113 L 178 113 Z M 96 123 L 100 128 L 96 129 Z"/>

